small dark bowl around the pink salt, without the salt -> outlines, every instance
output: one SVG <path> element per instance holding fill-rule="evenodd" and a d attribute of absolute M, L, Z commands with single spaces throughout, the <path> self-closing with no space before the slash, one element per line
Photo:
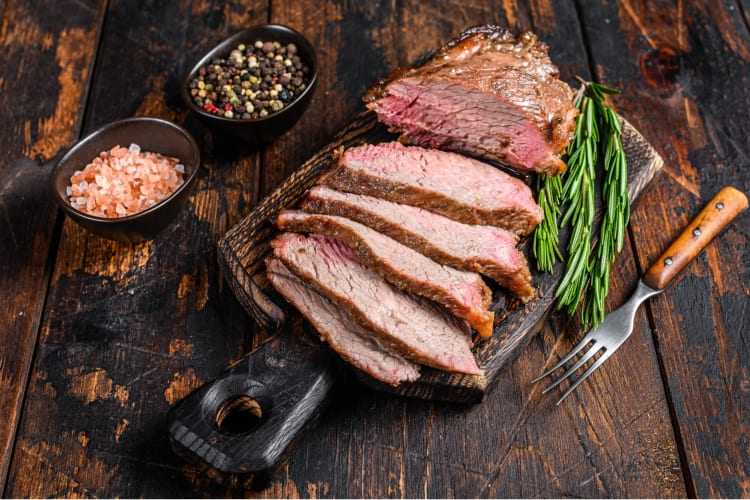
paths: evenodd
<path fill-rule="evenodd" d="M 182 185 L 153 207 L 126 217 L 96 217 L 73 208 L 66 193 L 70 176 L 83 170 L 102 151 L 133 143 L 142 151 L 178 158 L 185 166 Z M 185 129 L 160 118 L 127 118 L 105 125 L 76 143 L 52 169 L 50 187 L 65 213 L 84 228 L 104 238 L 135 243 L 152 239 L 174 220 L 195 186 L 199 167 L 198 144 Z"/>

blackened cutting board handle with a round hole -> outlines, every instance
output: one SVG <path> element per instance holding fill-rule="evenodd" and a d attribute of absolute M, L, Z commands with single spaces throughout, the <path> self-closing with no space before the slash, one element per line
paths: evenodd
<path fill-rule="evenodd" d="M 226 486 L 267 484 L 339 378 L 332 351 L 301 330 L 277 333 L 178 402 L 167 415 L 175 452 Z"/>

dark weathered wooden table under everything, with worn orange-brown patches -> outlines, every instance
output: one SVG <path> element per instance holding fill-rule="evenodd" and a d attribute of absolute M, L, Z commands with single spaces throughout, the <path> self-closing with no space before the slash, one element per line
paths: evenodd
<path fill-rule="evenodd" d="M 614 266 L 633 290 L 718 189 L 750 192 L 750 2 L 546 0 L 11 1 L 0 27 L 0 488 L 6 497 L 748 497 L 750 213 L 661 296 L 561 406 L 531 379 L 578 326 L 553 316 L 482 404 L 341 388 L 260 492 L 227 491 L 170 450 L 170 405 L 260 341 L 217 240 L 361 108 L 377 77 L 466 27 L 532 29 L 564 79 L 614 99 L 665 159 Z M 205 50 L 275 22 L 317 46 L 297 126 L 262 149 L 213 135 L 179 99 Z M 65 218 L 47 176 L 115 119 L 184 124 L 198 186 L 151 242 L 102 240 Z"/>

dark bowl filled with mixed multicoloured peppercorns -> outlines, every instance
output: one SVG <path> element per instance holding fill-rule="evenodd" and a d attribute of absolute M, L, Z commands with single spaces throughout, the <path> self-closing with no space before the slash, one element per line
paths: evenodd
<path fill-rule="evenodd" d="M 317 77 L 310 42 L 291 28 L 265 24 L 211 49 L 190 70 L 181 93 L 210 127 L 267 143 L 299 120 Z"/>

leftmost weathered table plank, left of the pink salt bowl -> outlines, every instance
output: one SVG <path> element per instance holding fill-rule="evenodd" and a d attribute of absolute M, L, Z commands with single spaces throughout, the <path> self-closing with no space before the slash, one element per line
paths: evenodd
<path fill-rule="evenodd" d="M 0 29 L 0 491 L 54 255 L 53 160 L 76 139 L 104 2 L 6 2 Z M 61 13 L 65 15 L 61 15 Z M 33 112 L 32 112 L 33 111 Z"/>

